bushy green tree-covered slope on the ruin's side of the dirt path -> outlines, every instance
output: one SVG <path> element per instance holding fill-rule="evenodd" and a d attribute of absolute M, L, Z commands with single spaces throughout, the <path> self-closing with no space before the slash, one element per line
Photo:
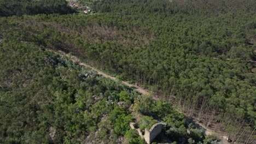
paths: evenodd
<path fill-rule="evenodd" d="M 140 128 L 167 122 L 171 141 L 217 140 L 205 139 L 166 101 L 141 97 L 43 47 L 4 40 L 0 53 L 0 143 L 144 143 L 130 130 L 129 109 L 141 115 Z"/>

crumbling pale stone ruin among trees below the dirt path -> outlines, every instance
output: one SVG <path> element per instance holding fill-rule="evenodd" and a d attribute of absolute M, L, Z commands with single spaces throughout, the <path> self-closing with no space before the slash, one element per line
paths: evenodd
<path fill-rule="evenodd" d="M 148 144 L 152 143 L 152 141 L 155 139 L 156 136 L 158 136 L 162 129 L 166 127 L 167 123 L 156 123 L 150 128 L 150 130 L 145 129 L 145 134 L 143 135 L 141 129 L 135 128 L 135 123 L 130 123 L 131 129 L 136 129 L 139 136 L 142 137 Z"/>

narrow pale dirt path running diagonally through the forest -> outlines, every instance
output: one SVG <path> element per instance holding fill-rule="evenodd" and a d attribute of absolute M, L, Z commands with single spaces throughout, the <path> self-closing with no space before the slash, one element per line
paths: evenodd
<path fill-rule="evenodd" d="M 57 51 L 57 53 L 59 53 L 59 54 L 62 55 L 62 56 L 64 55 L 64 56 L 67 56 L 67 57 L 71 58 L 71 60 L 72 60 L 73 62 L 78 62 L 79 65 L 82 65 L 82 66 L 85 67 L 85 68 L 88 68 L 88 69 L 91 69 L 91 70 L 96 71 L 98 74 L 102 75 L 103 77 L 109 78 L 109 79 L 114 80 L 114 81 L 118 80 L 116 77 L 110 76 L 110 75 L 104 73 L 104 72 L 101 71 L 101 70 L 98 70 L 98 69 L 96 69 L 96 68 L 94 68 L 94 67 L 91 67 L 90 65 L 88 65 L 88 64 L 86 64 L 86 63 L 81 62 L 81 61 L 80 61 L 77 57 L 75 57 L 75 56 L 71 56 L 71 55 L 69 55 L 69 54 L 67 54 L 67 53 L 65 53 L 65 52 L 63 52 L 63 51 Z M 130 83 L 128 83 L 128 82 L 126 82 L 126 81 L 120 81 L 120 82 L 123 83 L 123 84 L 126 85 L 126 86 L 129 86 L 129 87 L 131 87 L 131 88 L 136 89 L 136 91 L 138 91 L 139 93 L 141 93 L 141 94 L 143 94 L 143 95 L 147 95 L 147 94 L 153 93 L 153 92 L 150 92 L 150 91 L 148 91 L 147 89 L 141 88 L 141 87 L 139 87 L 139 86 L 131 85 Z M 155 100 L 158 100 L 159 98 L 154 97 L 154 99 L 155 99 Z M 177 111 L 178 111 L 179 113 L 183 113 L 181 110 L 177 110 Z M 183 113 L 183 114 L 185 115 L 185 113 Z M 185 116 L 187 116 L 187 115 L 185 115 Z M 188 117 L 188 116 L 187 116 L 187 117 Z M 193 119 L 193 118 L 192 118 L 192 119 Z M 195 121 L 195 119 L 193 119 L 193 120 L 194 120 L 194 122 L 195 122 L 196 124 L 200 125 L 200 127 L 202 127 L 203 129 L 205 129 L 205 134 L 206 134 L 206 135 L 212 135 L 212 134 L 216 133 L 215 131 L 213 131 L 213 130 L 207 128 L 207 127 L 205 127 L 205 125 L 203 125 L 203 124 L 201 124 L 201 123 Z M 218 133 L 216 133 L 216 134 L 218 134 Z M 223 143 L 224 143 L 224 144 L 228 143 L 226 140 L 223 139 L 222 135 L 219 135 L 219 139 L 223 140 Z"/>

